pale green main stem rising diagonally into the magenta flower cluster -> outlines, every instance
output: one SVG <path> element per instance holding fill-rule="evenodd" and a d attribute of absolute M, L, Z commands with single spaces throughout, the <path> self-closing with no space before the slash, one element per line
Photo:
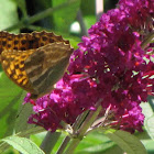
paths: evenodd
<path fill-rule="evenodd" d="M 101 110 L 100 102 L 101 102 L 101 99 L 96 105 L 97 110 L 96 111 L 90 111 L 90 113 L 86 118 L 85 122 L 82 123 L 82 125 L 80 127 L 80 129 L 78 131 L 77 138 L 73 139 L 73 141 L 72 141 L 70 145 L 68 146 L 68 148 L 66 150 L 65 154 L 73 154 L 76 146 L 82 140 L 86 131 L 91 127 L 91 124 L 94 123 L 94 121 L 96 120 L 96 118 L 98 117 L 98 114 Z"/>

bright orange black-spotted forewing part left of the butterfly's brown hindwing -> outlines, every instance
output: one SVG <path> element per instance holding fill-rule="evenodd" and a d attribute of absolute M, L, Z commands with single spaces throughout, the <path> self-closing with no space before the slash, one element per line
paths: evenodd
<path fill-rule="evenodd" d="M 33 92 L 33 88 L 30 85 L 29 77 L 25 73 L 24 61 L 34 52 L 30 50 L 23 51 L 3 51 L 1 54 L 1 65 L 7 76 L 22 87 L 26 91 Z"/>

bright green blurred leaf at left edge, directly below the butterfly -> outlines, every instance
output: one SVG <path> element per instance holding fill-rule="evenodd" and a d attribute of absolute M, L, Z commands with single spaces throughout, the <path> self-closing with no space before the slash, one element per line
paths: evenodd
<path fill-rule="evenodd" d="M 0 138 L 12 134 L 19 103 L 23 102 L 23 90 L 0 73 Z"/>

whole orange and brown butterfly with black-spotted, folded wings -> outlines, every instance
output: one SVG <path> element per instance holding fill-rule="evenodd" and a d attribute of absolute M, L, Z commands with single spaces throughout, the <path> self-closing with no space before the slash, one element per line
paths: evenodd
<path fill-rule="evenodd" d="M 0 62 L 7 76 L 36 99 L 54 89 L 74 48 L 54 33 L 0 32 Z"/>

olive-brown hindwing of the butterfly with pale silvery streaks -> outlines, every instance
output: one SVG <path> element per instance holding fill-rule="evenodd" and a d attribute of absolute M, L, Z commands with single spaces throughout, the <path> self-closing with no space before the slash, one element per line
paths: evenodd
<path fill-rule="evenodd" d="M 52 43 L 36 50 L 25 61 L 25 72 L 36 96 L 50 92 L 62 78 L 73 48 L 64 42 Z"/>

